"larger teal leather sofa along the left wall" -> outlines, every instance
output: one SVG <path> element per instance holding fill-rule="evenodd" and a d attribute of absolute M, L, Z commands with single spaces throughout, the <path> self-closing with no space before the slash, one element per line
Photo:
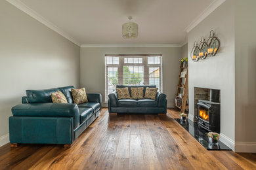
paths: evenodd
<path fill-rule="evenodd" d="M 101 95 L 87 93 L 89 103 L 74 104 L 74 86 L 26 90 L 22 104 L 12 107 L 10 143 L 72 144 L 100 115 Z M 51 93 L 60 90 L 68 103 L 53 103 Z"/>

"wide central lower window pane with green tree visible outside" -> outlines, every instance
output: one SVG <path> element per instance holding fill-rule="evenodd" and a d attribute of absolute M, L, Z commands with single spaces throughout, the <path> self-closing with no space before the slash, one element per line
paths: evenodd
<path fill-rule="evenodd" d="M 124 66 L 123 67 L 123 84 L 125 85 L 142 85 L 144 82 L 143 66 Z"/>

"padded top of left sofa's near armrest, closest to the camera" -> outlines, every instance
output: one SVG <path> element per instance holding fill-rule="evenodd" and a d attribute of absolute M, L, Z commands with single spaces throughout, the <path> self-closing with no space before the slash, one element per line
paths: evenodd
<path fill-rule="evenodd" d="M 13 116 L 72 117 L 79 126 L 79 109 L 73 103 L 27 103 L 12 107 Z"/>

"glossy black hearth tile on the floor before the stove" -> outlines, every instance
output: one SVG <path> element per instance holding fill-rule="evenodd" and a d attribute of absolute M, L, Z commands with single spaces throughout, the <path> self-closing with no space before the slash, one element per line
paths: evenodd
<path fill-rule="evenodd" d="M 175 120 L 181 124 L 181 126 L 190 133 L 200 144 L 203 145 L 207 150 L 231 150 L 226 144 L 219 141 L 219 144 L 209 143 L 207 133 L 205 129 L 198 127 L 197 123 L 192 122 L 191 120 L 181 121 L 180 118 L 175 118 Z"/>

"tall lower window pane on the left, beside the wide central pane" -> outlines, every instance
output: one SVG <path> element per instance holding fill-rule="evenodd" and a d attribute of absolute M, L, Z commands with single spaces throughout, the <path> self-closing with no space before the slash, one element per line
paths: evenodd
<path fill-rule="evenodd" d="M 116 84 L 118 83 L 117 70 L 117 67 L 108 67 L 108 94 L 116 90 Z"/>

